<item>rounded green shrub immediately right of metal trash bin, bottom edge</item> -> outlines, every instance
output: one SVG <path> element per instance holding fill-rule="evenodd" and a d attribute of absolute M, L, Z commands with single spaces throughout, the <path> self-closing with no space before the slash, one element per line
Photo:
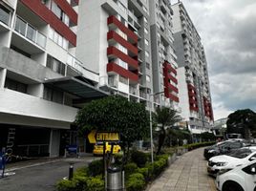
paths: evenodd
<path fill-rule="evenodd" d="M 127 191 L 140 191 L 145 187 L 145 180 L 142 174 L 134 173 L 129 176 L 129 179 L 126 182 Z"/>

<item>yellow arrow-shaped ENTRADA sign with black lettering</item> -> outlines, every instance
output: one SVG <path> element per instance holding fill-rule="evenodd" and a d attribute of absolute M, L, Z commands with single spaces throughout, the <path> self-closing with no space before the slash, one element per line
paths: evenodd
<path fill-rule="evenodd" d="M 96 141 L 104 141 L 104 142 L 113 142 L 119 141 L 119 133 L 117 132 L 96 132 L 96 130 L 91 131 L 88 135 L 88 139 L 90 143 L 95 144 Z"/>

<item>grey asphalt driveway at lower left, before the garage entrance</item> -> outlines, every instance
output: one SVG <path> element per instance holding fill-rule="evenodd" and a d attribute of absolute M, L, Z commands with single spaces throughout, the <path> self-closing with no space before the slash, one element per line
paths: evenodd
<path fill-rule="evenodd" d="M 68 177 L 70 162 L 75 163 L 76 169 L 87 165 L 93 159 L 95 158 L 58 159 L 47 164 L 21 167 L 14 170 L 15 175 L 0 179 L 0 191 L 53 191 L 57 180 Z"/>

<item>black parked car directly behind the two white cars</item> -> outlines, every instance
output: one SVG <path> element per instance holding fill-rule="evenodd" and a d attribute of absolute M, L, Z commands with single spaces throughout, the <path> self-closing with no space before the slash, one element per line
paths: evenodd
<path fill-rule="evenodd" d="M 223 142 L 218 142 L 213 146 L 207 147 L 204 149 L 203 156 L 205 159 L 210 159 L 214 156 L 225 155 L 233 150 L 249 146 L 250 142 L 245 139 L 232 139 L 225 140 Z"/>

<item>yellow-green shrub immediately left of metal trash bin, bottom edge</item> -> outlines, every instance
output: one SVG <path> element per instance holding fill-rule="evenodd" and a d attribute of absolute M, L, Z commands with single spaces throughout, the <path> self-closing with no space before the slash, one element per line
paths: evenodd
<path fill-rule="evenodd" d="M 100 176 L 90 177 L 86 183 L 86 191 L 104 191 L 104 180 Z"/>

